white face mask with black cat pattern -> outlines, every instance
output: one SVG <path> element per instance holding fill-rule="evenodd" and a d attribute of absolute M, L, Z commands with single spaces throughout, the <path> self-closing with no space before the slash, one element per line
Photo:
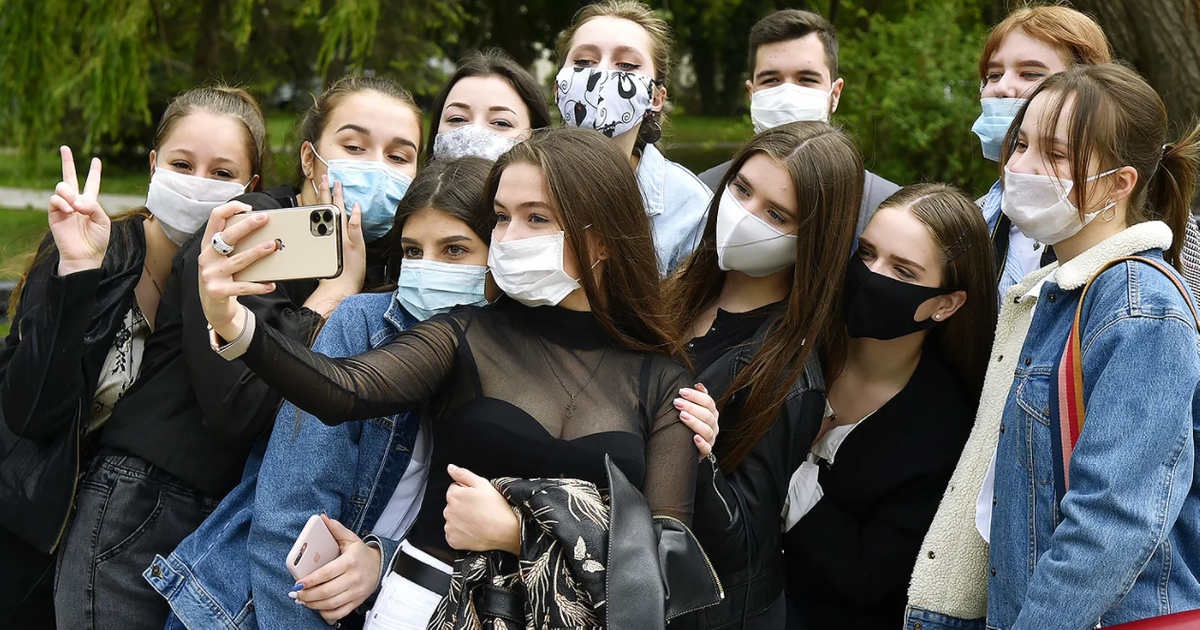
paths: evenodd
<path fill-rule="evenodd" d="M 612 138 L 642 122 L 654 102 L 654 79 L 619 70 L 564 67 L 554 78 L 563 122 Z"/>

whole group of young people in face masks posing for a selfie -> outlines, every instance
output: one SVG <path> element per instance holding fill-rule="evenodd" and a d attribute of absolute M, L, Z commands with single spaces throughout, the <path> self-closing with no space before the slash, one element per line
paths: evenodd
<path fill-rule="evenodd" d="M 586 6 L 552 103 L 496 50 L 425 113 L 342 78 L 290 184 L 262 180 L 252 97 L 193 89 L 112 217 L 62 148 L 0 352 L 0 625 L 1200 608 L 1198 131 L 1169 137 L 1087 16 L 1026 6 L 962 130 L 995 186 L 899 187 L 828 124 L 833 26 L 786 10 L 750 32 L 756 136 L 696 176 L 655 145 L 671 40 L 636 0 Z M 316 204 L 343 210 L 337 277 L 235 280 L 270 210 Z M 296 580 L 313 515 L 340 554 Z"/>

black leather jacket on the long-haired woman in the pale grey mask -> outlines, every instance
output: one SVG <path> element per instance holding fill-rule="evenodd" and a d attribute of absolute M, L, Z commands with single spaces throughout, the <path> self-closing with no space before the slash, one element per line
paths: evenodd
<path fill-rule="evenodd" d="M 774 316 L 754 337 L 713 362 L 697 382 L 720 398 L 762 348 Z M 722 430 L 738 421 L 738 397 L 726 406 Z M 725 587 L 725 600 L 703 611 L 703 628 L 744 628 L 784 593 L 780 515 L 792 472 L 799 468 L 824 415 L 824 379 L 818 358 L 810 355 L 788 390 L 775 424 L 731 474 L 714 457 L 703 460 L 696 476 L 694 529 Z"/>

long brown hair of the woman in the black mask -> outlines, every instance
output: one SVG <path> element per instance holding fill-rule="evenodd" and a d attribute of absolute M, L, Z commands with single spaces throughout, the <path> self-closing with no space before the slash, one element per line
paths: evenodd
<path fill-rule="evenodd" d="M 944 184 L 913 184 L 888 197 L 878 210 L 906 209 L 929 229 L 942 262 L 942 286 L 960 289 L 967 301 L 929 332 L 954 373 L 978 403 L 988 356 L 996 336 L 996 260 L 988 222 L 966 194 Z"/>

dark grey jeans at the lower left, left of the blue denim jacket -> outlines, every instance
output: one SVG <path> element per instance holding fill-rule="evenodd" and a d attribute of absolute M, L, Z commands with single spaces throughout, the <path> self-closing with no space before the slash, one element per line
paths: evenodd
<path fill-rule="evenodd" d="M 216 505 L 140 457 L 92 460 L 59 554 L 59 628 L 160 630 L 170 608 L 142 571 L 156 553 L 170 553 Z"/>

